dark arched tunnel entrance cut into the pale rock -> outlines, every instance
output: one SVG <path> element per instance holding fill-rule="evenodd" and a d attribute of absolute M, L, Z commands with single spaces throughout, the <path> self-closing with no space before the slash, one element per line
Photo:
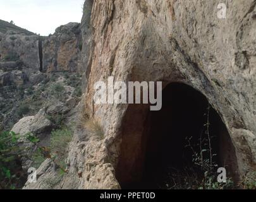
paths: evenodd
<path fill-rule="evenodd" d="M 169 84 L 161 110 L 130 105 L 123 123 L 116 168 L 123 189 L 196 189 L 205 172 L 217 176 L 219 167 L 235 181 L 237 160 L 228 131 L 207 98 L 192 87 Z"/>

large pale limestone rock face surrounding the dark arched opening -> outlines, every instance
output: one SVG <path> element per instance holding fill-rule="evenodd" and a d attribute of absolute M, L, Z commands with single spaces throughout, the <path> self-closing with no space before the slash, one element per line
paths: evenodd
<path fill-rule="evenodd" d="M 94 2 L 94 48 L 83 114 L 101 122 L 105 138 L 87 143 L 95 152 L 85 159 L 83 188 L 118 184 L 114 168 L 122 136 L 128 135 L 121 128 L 128 105 L 94 104 L 94 84 L 108 76 L 116 81 L 180 82 L 200 91 L 228 129 L 240 174 L 256 170 L 256 3 L 225 3 L 227 18 L 219 19 L 217 1 Z M 135 112 L 133 119 L 143 119 L 143 113 Z M 133 139 L 130 143 L 134 145 Z M 132 152 L 139 150 L 137 145 Z"/>

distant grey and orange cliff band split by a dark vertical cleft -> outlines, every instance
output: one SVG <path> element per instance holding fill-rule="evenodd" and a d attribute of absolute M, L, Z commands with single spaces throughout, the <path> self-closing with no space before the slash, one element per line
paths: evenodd
<path fill-rule="evenodd" d="M 86 30 L 87 28 L 83 28 L 83 32 Z M 5 61 L 0 64 L 0 68 L 8 64 L 13 67 L 14 63 L 10 62 L 18 61 L 27 68 L 44 73 L 78 72 L 82 68 L 80 64 L 82 49 L 83 52 L 88 52 L 88 48 L 83 47 L 80 23 L 62 25 L 49 37 L 40 37 L 19 30 L 0 32 L 0 61 Z"/>

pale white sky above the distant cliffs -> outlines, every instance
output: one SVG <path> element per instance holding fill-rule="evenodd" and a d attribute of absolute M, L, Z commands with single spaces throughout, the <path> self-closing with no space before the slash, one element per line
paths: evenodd
<path fill-rule="evenodd" d="M 0 0 L 0 20 L 47 36 L 69 22 L 82 19 L 85 0 Z"/>

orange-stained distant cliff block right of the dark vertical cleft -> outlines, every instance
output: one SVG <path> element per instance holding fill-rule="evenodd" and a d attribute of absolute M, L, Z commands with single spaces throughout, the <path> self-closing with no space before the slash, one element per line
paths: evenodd
<path fill-rule="evenodd" d="M 79 23 L 56 28 L 42 42 L 42 71 L 79 71 L 82 45 Z"/>

